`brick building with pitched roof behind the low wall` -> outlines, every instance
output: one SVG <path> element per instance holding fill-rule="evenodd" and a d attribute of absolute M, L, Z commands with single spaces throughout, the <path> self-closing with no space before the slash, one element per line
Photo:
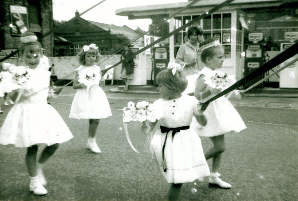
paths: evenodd
<path fill-rule="evenodd" d="M 63 37 L 73 44 L 55 45 L 55 56 L 75 56 L 83 47 L 95 43 L 101 55 L 111 54 L 120 48 L 121 44 L 134 40 L 139 35 L 128 26 L 116 26 L 85 20 L 79 12 L 75 18 L 55 28 L 55 36 Z M 60 54 L 63 52 L 63 54 Z"/>

